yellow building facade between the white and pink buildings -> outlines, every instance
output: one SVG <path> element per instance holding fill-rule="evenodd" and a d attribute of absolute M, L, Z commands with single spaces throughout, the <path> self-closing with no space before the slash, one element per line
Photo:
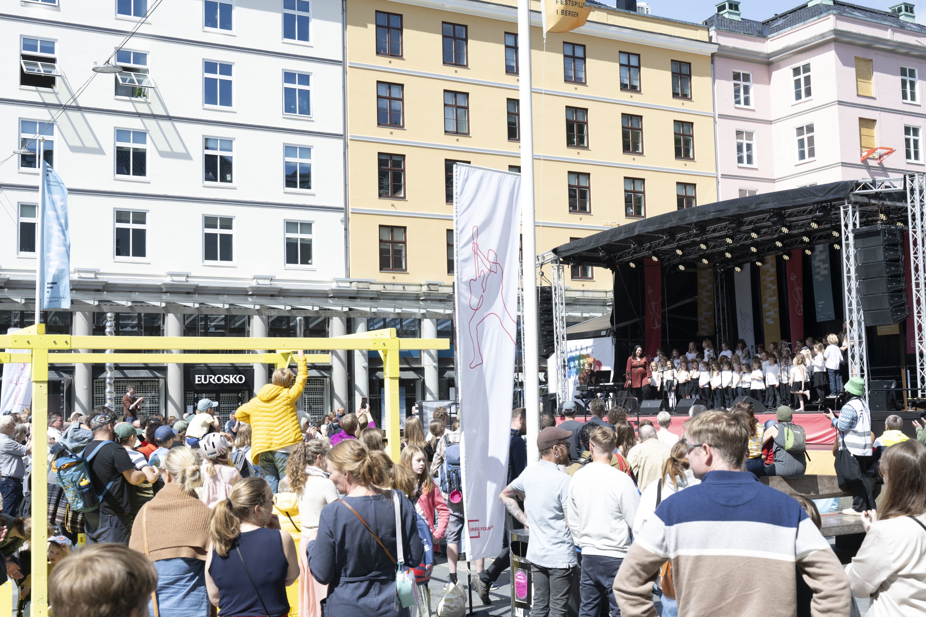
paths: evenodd
<path fill-rule="evenodd" d="M 347 4 L 350 277 L 453 280 L 452 166 L 519 171 L 517 2 Z M 716 201 L 707 29 L 596 8 L 567 33 L 532 3 L 538 253 Z M 572 289 L 610 275 L 573 266 Z"/>

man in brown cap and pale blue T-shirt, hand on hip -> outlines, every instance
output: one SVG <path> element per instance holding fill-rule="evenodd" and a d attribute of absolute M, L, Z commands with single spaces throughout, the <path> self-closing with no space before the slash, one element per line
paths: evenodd
<path fill-rule="evenodd" d="M 569 464 L 571 436 L 571 431 L 556 426 L 540 431 L 540 461 L 528 465 L 499 496 L 511 516 L 531 530 L 527 559 L 533 564 L 532 617 L 562 617 L 569 606 L 576 550 L 566 524 L 569 475 L 558 465 Z M 526 513 L 516 499 L 525 502 Z"/>

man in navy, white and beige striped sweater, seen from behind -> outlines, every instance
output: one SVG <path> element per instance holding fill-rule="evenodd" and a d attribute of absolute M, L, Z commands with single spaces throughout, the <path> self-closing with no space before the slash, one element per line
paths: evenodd
<path fill-rule="evenodd" d="M 751 426 L 708 412 L 688 426 L 688 460 L 701 484 L 663 500 L 614 579 L 623 617 L 656 617 L 654 576 L 671 561 L 680 617 L 794 617 L 796 575 L 815 617 L 847 615 L 839 560 L 801 505 L 743 471 Z"/>

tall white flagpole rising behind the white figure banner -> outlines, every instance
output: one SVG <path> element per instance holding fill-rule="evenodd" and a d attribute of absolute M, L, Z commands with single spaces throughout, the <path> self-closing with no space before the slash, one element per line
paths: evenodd
<path fill-rule="evenodd" d="M 531 4 L 518 0 L 518 63 L 521 120 L 521 254 L 524 266 L 524 405 L 527 408 L 527 460 L 540 460 L 537 433 L 540 430 L 540 379 L 537 375 L 537 267 L 533 211 L 533 105 L 531 73 Z"/>

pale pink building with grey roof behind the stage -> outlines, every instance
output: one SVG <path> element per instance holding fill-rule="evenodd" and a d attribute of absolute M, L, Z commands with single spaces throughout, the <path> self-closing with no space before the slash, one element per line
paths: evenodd
<path fill-rule="evenodd" d="M 755 21 L 720 3 L 704 22 L 720 45 L 718 200 L 926 171 L 926 27 L 913 11 L 811 0 Z M 861 161 L 872 147 L 895 152 Z"/>

